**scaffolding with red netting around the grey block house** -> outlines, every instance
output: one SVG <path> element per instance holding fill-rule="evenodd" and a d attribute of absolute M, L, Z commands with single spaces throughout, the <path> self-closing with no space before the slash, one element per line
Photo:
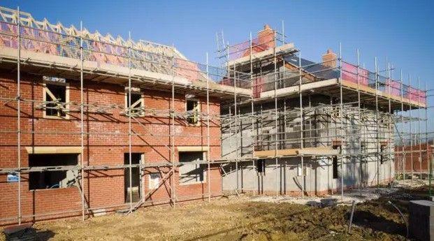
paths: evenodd
<path fill-rule="evenodd" d="M 268 31 L 267 35 L 273 38 L 261 38 L 263 31 Z M 217 38 L 218 36 L 217 34 Z M 276 196 L 286 194 L 286 189 L 282 193 L 277 183 L 282 182 L 282 179 L 278 181 L 281 168 L 277 168 L 277 160 L 289 157 L 296 157 L 301 163 L 302 197 L 305 195 L 304 165 L 308 157 L 329 160 L 332 156 L 338 156 L 341 173 L 343 166 L 350 164 L 352 159 L 359 160 L 362 173 L 359 187 L 367 187 L 384 183 L 382 177 L 385 173 L 381 173 L 380 168 L 384 161 L 389 163 L 389 177 L 386 181 L 407 178 L 403 168 L 405 157 L 402 159 L 402 156 L 410 154 L 413 163 L 413 153 L 416 152 L 419 156 L 419 178 L 422 178 L 421 163 L 424 156 L 426 175 L 431 180 L 433 157 L 428 156 L 428 149 L 432 138 L 428 136 L 432 135 L 433 131 L 428 130 L 427 112 L 432 107 L 427 101 L 429 90 L 420 89 L 419 80 L 417 88 L 411 87 L 410 77 L 408 85 L 403 84 L 402 77 L 400 80 L 394 78 L 394 68 L 389 63 L 386 63 L 384 70 L 380 70 L 377 58 L 375 71 L 368 71 L 359 62 L 359 50 L 356 50 L 356 64 L 342 58 L 340 45 L 339 54 L 335 58 L 314 63 L 302 59 L 301 51 L 296 50 L 294 45 L 287 44 L 284 34 L 268 26 L 259 31 L 258 36 L 259 38 L 253 40 L 250 34 L 250 41 L 231 46 L 228 44 L 224 49 L 220 49 L 221 44 L 217 44 L 219 58 L 226 60 L 228 69 L 252 75 L 252 98 L 247 101 L 235 99 L 231 105 L 222 106 L 226 108 L 226 115 L 222 115 L 222 135 L 225 136 L 226 133 L 229 137 L 235 137 L 232 138 L 231 148 L 232 143 L 235 143 L 237 162 L 240 159 L 249 161 L 246 160 L 247 157 L 275 159 Z M 266 48 L 258 51 L 257 46 Z M 335 62 L 335 65 L 331 62 Z M 311 96 L 315 94 L 329 96 L 330 104 L 312 106 Z M 294 106 L 297 97 L 298 106 Z M 270 107 L 272 103 L 274 108 Z M 263 105 L 267 104 L 267 110 L 263 110 Z M 289 105 L 293 106 L 289 108 Z M 244 112 L 240 114 L 239 109 L 243 108 Z M 417 117 L 412 116 L 415 110 L 418 112 Z M 424 118 L 421 117 L 421 111 L 425 112 Z M 329 118 L 324 121 L 326 125 L 320 128 L 312 127 L 312 121 L 321 115 Z M 246 122 L 248 119 L 252 120 L 251 124 Z M 244 124 L 240 125 L 240 122 Z M 224 126 L 225 123 L 229 124 Z M 399 123 L 401 126 L 398 126 Z M 410 127 L 410 133 L 405 133 L 405 124 Z M 412 129 L 414 124 L 418 126 L 417 132 Z M 424 124 L 424 130 L 421 124 Z M 252 135 L 243 135 L 245 129 L 251 129 Z M 238 147 L 238 142 L 245 143 L 252 137 L 254 140 L 250 146 Z M 405 149 L 408 142 L 410 151 Z M 422 148 L 423 146 L 426 148 Z M 335 149 L 333 147 L 338 147 L 339 150 L 331 151 Z M 245 151 L 249 148 L 250 152 Z M 232 149 L 226 153 L 227 156 L 231 154 Z M 369 162 L 374 162 L 376 167 L 375 182 L 371 180 L 368 183 L 369 178 L 363 180 L 363 172 L 368 172 L 363 170 L 363 166 Z M 287 165 L 286 161 L 284 165 Z M 255 168 L 254 161 L 252 168 Z M 411 170 L 413 174 L 413 166 Z M 392 175 L 393 172 L 395 174 Z M 343 177 L 344 175 L 340 175 L 342 198 L 346 186 Z M 411 177 L 413 178 L 413 175 Z M 245 191 L 238 183 L 238 171 L 236 179 L 236 187 L 233 189 L 236 193 Z M 258 194 L 259 187 L 255 187 L 254 179 L 255 175 L 252 177 L 251 191 Z M 329 190 L 333 193 L 333 182 L 331 184 Z"/>

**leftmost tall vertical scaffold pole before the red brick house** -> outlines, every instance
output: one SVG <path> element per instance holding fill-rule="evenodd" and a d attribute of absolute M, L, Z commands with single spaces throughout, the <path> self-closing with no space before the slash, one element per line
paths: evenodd
<path fill-rule="evenodd" d="M 20 7 L 17 8 L 17 161 L 18 161 L 18 224 L 21 224 L 21 34 Z"/>

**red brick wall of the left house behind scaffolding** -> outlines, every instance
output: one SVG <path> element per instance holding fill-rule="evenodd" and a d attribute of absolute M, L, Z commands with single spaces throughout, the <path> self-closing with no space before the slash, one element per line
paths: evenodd
<path fill-rule="evenodd" d="M 21 95 L 23 99 L 43 100 L 42 77 L 37 75 L 21 75 Z M 69 101 L 80 103 L 80 82 L 68 81 Z M 17 91 L 16 73 L 0 71 L 0 97 L 15 98 Z M 171 108 L 171 93 L 157 90 L 143 90 L 145 108 L 168 110 Z M 85 103 L 98 105 L 124 106 L 124 87 L 106 83 L 85 81 Z M 206 98 L 199 97 L 201 110 L 206 111 Z M 4 104 L 6 103 L 6 104 Z M 31 146 L 80 146 L 80 112 L 71 112 L 69 119 L 43 118 L 43 110 L 37 107 L 41 103 L 23 101 L 21 104 L 21 166 L 28 166 L 25 147 Z M 78 105 L 70 106 L 79 109 Z M 175 95 L 175 110 L 185 111 L 185 95 Z M 101 115 L 85 112 L 85 153 L 87 166 L 109 166 L 124 164 L 124 153 L 129 150 L 128 118 L 121 114 L 122 110 L 110 109 L 108 114 Z M 210 98 L 211 115 L 219 115 L 218 99 Z M 132 130 L 143 136 L 132 137 L 133 152 L 143 152 L 145 162 L 170 161 L 171 152 L 165 146 L 171 146 L 171 119 L 167 117 L 138 117 L 138 124 L 133 120 Z M 17 166 L 17 102 L 2 101 L 0 105 L 0 168 Z M 210 159 L 219 159 L 220 124 L 212 119 L 210 123 Z M 42 131 L 50 133 L 41 133 Z M 106 132 L 107 134 L 99 134 Z M 110 134 L 108 134 L 110 133 Z M 166 136 L 150 136 L 166 135 Z M 206 146 L 207 129 L 204 121 L 200 126 L 188 126 L 184 119 L 175 119 L 175 146 Z M 146 136 L 145 136 L 146 135 Z M 197 138 L 194 136 L 202 136 Z M 175 151 L 178 161 L 178 151 Z M 168 168 L 160 168 L 166 173 Z M 147 168 L 145 173 L 155 172 Z M 164 174 L 163 174 L 164 175 Z M 212 195 L 221 194 L 221 175 L 217 166 L 212 166 L 210 173 Z M 171 179 L 170 179 L 171 180 Z M 145 193 L 149 191 L 147 175 L 143 176 Z M 167 180 L 148 200 L 166 200 L 170 197 L 170 182 Z M 91 208 L 122 205 L 124 203 L 124 170 L 92 170 L 85 173 L 85 198 Z M 208 180 L 203 184 L 178 185 L 178 171 L 175 171 L 175 192 L 179 200 L 201 198 L 208 195 Z M 29 191 L 28 175 L 22 175 L 21 183 L 22 216 L 31 220 L 30 215 L 52 212 L 78 211 L 80 214 L 81 199 L 77 187 L 65 189 L 44 189 Z M 67 214 L 64 214 L 67 215 Z M 0 219 L 17 216 L 17 183 L 6 182 L 6 175 L 0 175 Z M 49 217 L 49 216 L 48 216 Z M 48 218 L 44 217 L 44 218 Z M 42 217 L 41 217 L 42 218 Z M 38 220 L 40 218 L 37 218 Z M 13 220 L 16 221 L 16 220 Z M 3 223 L 0 220 L 0 223 Z"/>

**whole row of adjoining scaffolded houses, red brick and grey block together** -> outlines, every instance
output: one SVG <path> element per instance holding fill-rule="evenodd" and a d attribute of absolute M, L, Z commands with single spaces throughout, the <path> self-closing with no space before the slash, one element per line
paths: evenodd
<path fill-rule="evenodd" d="M 222 66 L 198 64 L 0 7 L 0 224 L 223 193 L 344 195 L 393 181 L 405 155 L 431 166 L 404 147 L 416 131 L 428 145 L 427 91 L 390 66 L 332 50 L 315 63 L 268 26 L 218 53 Z"/>

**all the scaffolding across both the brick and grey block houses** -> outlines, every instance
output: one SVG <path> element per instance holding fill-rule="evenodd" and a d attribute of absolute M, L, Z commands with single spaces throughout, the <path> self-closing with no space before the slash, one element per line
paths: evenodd
<path fill-rule="evenodd" d="M 242 163 L 252 164 L 252 190 L 254 195 L 259 193 L 255 187 L 256 163 L 259 159 L 273 159 L 278 166 L 279 161 L 288 157 L 296 157 L 301 161 L 301 191 L 300 196 L 309 193 L 305 190 L 306 159 L 324 159 L 328 166 L 333 156 L 338 156 L 340 170 L 358 159 L 360 163 L 375 162 L 376 182 L 364 180 L 360 187 L 379 185 L 382 183 L 379 162 L 387 159 L 389 162 L 389 181 L 392 170 L 396 171 L 396 178 L 406 178 L 405 158 L 414 153 L 420 159 L 425 154 L 428 166 L 432 166 L 428 158 L 428 140 L 433 132 L 428 131 L 428 102 L 429 90 L 420 90 L 393 79 L 394 68 L 387 63 L 384 71 L 380 71 L 375 59 L 375 72 L 368 71 L 359 64 L 359 51 L 356 52 L 356 64 L 350 64 L 342 59 L 341 50 L 336 58 L 321 63 L 308 62 L 301 58 L 301 51 L 296 50 L 292 43 L 288 43 L 283 33 L 273 29 L 261 34 L 258 38 L 249 36 L 249 41 L 237 45 L 219 45 L 219 59 L 225 68 L 208 64 L 198 64 L 188 61 L 173 46 L 159 45 L 147 41 L 134 42 L 131 34 L 128 40 L 92 34 L 87 29 L 64 27 L 62 24 L 50 24 L 47 20 L 34 20 L 28 13 L 0 7 L 0 48 L 2 68 L 12 69 L 17 73 L 15 96 L 0 96 L 4 105 L 15 103 L 17 125 L 13 128 L 2 128 L 3 135 L 16 135 L 17 163 L 10 167 L 1 167 L 0 175 L 17 175 L 17 215 L 6 217 L 0 222 L 17 222 L 37 217 L 57 217 L 64 214 L 77 214 L 82 219 L 102 209 L 125 210 L 133 212 L 138 207 L 156 203 L 176 203 L 196 198 L 211 200 L 220 193 L 212 193 L 211 170 L 218 167 L 225 176 L 225 166 L 235 165 L 236 194 L 245 193 L 240 183 L 239 170 Z M 282 31 L 283 32 L 283 31 Z M 218 37 L 217 37 L 218 38 Z M 224 42 L 224 41 L 223 41 Z M 340 48 L 339 48 L 340 49 Z M 6 51 L 7 50 L 7 51 Z M 23 52 L 24 51 L 24 52 Z M 33 54 L 33 55 L 32 55 Z M 41 54 L 41 55 L 38 55 Z M 43 59 L 43 54 L 50 54 L 53 59 Z M 62 58 L 68 58 L 68 63 Z M 73 61 L 71 61 L 71 59 Z M 295 59 L 295 60 L 294 60 Z M 294 62 L 291 62 L 294 61 Z M 330 63 L 335 61 L 336 66 Z M 96 63 L 96 64 L 92 64 Z M 110 66 L 109 66 L 110 65 Z M 110 68 L 107 68 L 109 66 Z M 273 66 L 273 68 L 263 68 Z M 117 68 L 114 68 L 117 67 Z M 282 70 L 283 69 L 283 70 Z M 73 101 L 62 102 L 59 99 L 41 101 L 37 98 L 22 98 L 22 73 L 38 73 L 39 75 L 53 75 L 80 81 L 80 103 Z M 380 74 L 385 72 L 386 76 Z M 129 106 L 116 103 L 89 103 L 85 101 L 85 84 L 89 82 L 108 82 L 122 85 L 126 89 Z M 419 80 L 418 80 L 419 83 Z M 419 85 L 419 84 L 418 84 Z M 161 108 L 144 108 L 131 105 L 133 88 L 159 89 L 170 95 L 170 106 L 166 110 Z M 3 93 L 3 92 L 2 92 Z M 5 92 L 6 93 L 6 92 Z M 194 94 L 204 96 L 205 111 L 189 112 L 177 110 L 176 101 L 179 94 Z M 328 96 L 329 103 L 312 105 L 314 95 L 320 93 Z M 432 96 L 432 95 L 431 95 Z M 213 101 L 211 101 L 211 98 Z M 221 108 L 227 113 L 212 114 L 210 102 L 219 98 Z M 294 105 L 291 100 L 297 99 Z M 274 108 L 264 108 L 266 103 L 273 103 Z M 68 114 L 76 114 L 80 131 L 46 131 L 28 130 L 22 126 L 22 108 L 31 110 L 57 110 Z M 417 117 L 412 112 L 417 110 Z M 424 110 L 422 118 L 420 111 Z M 125 117 L 128 126 L 126 132 L 89 130 L 85 124 L 89 117 L 120 114 Z M 405 114 L 408 115 L 406 116 Z M 205 134 L 187 135 L 177 133 L 179 122 L 185 123 L 191 115 L 197 115 L 200 128 L 205 128 Z M 154 133 L 147 128 L 146 118 L 164 118 L 169 126 L 168 134 Z M 380 124 L 381 123 L 381 124 Z M 412 124 L 413 123 L 413 124 Z M 414 123 L 417 123 L 417 133 L 414 133 Z M 424 130 L 421 124 L 424 124 Z M 400 124 L 400 126 L 398 126 Z M 408 126 L 409 132 L 405 131 Z M 283 126 L 283 127 L 282 127 Z M 3 126 L 2 126 L 3 127 Z M 6 127 L 6 126 L 4 126 Z M 222 128 L 227 136 L 212 136 L 212 128 Z M 243 131 L 249 129 L 252 135 L 245 136 Z M 268 133 L 263 129 L 273 130 Z M 23 135 L 56 135 L 80 137 L 80 162 L 76 166 L 29 167 L 22 166 L 22 136 Z M 89 152 L 89 136 L 119 136 L 128 138 L 128 164 L 123 165 L 88 165 L 85 154 Z M 163 139 L 162 145 L 167 155 L 161 154 L 163 160 L 146 160 L 132 163 L 135 138 Z M 179 138 L 179 140 L 178 140 Z M 205 143 L 206 157 L 189 164 L 176 160 L 176 147 L 182 140 L 198 139 Z M 229 155 L 219 158 L 212 157 L 212 150 L 219 145 L 216 141 L 231 140 Z M 252 140 L 245 145 L 244 140 Z M 424 142 L 422 142 L 424 140 Z M 393 145 L 393 143 L 395 143 Z M 417 145 L 417 148 L 415 148 Z M 426 149 L 422 148 L 426 145 Z M 345 147 L 353 148 L 349 152 Z M 214 148 L 212 148 L 214 147 Z M 338 148 L 335 148 L 338 147 Z M 407 147 L 410 147 L 408 149 Z M 386 148 L 386 149 L 382 149 Z M 356 151 L 354 151 L 354 149 Z M 318 151 L 321 151 L 319 153 Z M 223 153 L 223 145 L 222 145 Z M 432 152 L 431 152 L 432 153 Z M 166 158 L 165 156 L 168 156 Z M 213 154 L 213 156 L 217 156 Z M 395 161 L 393 165 L 392 160 Z M 402 166 L 400 166 L 402 163 Z M 194 195 L 180 195 L 177 193 L 175 172 L 185 165 L 205 165 L 206 191 Z M 285 162 L 286 165 L 286 162 Z M 308 165 L 312 165 L 308 163 Z M 392 166 L 393 165 L 393 166 Z M 398 165 L 398 166 L 396 166 Z M 362 165 L 360 164 L 362 168 Z M 89 186 L 89 175 L 92 172 L 108 170 L 129 170 L 129 189 L 132 187 L 132 168 L 140 169 L 141 190 L 140 200 L 133 202 L 132 192 L 129 192 L 129 202 L 117 205 L 92 207 L 89 204 L 85 187 Z M 413 166 L 411 167 L 413 174 Z M 158 188 L 165 185 L 169 189 L 169 197 L 160 200 L 148 200 L 155 191 L 145 190 L 144 173 L 149 169 L 157 169 L 161 173 Z M 420 177 L 422 177 L 420 168 Z M 428 175 L 431 177 L 431 168 Z M 75 177 L 80 194 L 81 208 L 78 210 L 64 210 L 62 212 L 48 212 L 23 215 L 21 177 L 32 172 L 50 172 L 57 170 L 77 170 L 80 174 Z M 279 175 L 275 168 L 275 196 L 287 194 L 280 191 L 277 183 Z M 402 172 L 401 172 L 402 170 Z M 364 170 L 366 171 L 366 170 Z M 362 170 L 363 172 L 363 170 Z M 430 178 L 431 179 L 431 178 Z M 365 182 L 366 181 L 366 182 Z M 328 190 L 337 189 L 331 187 Z M 340 194 L 344 195 L 343 175 L 340 176 Z M 312 191 L 312 190 L 310 190 Z"/>

